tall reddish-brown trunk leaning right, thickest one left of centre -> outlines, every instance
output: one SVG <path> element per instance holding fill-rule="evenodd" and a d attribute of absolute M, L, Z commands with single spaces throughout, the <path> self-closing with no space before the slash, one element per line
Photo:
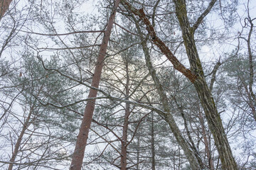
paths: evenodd
<path fill-rule="evenodd" d="M 110 18 L 107 23 L 107 28 L 105 30 L 105 35 L 103 37 L 102 44 L 100 45 L 100 52 L 97 58 L 95 73 L 92 77 L 92 84 L 91 84 L 91 86 L 96 88 L 98 88 L 100 84 L 100 77 L 102 73 L 103 62 L 104 62 L 104 58 L 107 51 L 107 42 L 110 39 L 110 34 L 111 34 L 112 26 L 114 23 L 115 13 L 116 13 L 116 8 L 119 5 L 119 2 L 120 0 L 114 1 L 114 8 L 112 10 L 112 13 L 110 14 Z M 96 96 L 97 96 L 97 90 L 90 89 L 88 98 L 95 98 Z M 82 118 L 82 123 L 80 125 L 78 140 L 75 144 L 75 151 L 73 154 L 70 169 L 78 170 L 78 169 L 81 169 L 82 167 L 82 159 L 85 154 L 85 146 L 87 144 L 89 129 L 92 123 L 92 115 L 94 112 L 94 108 L 95 108 L 95 99 L 91 99 L 90 101 L 87 102 L 87 105 L 85 107 L 85 113 Z"/>

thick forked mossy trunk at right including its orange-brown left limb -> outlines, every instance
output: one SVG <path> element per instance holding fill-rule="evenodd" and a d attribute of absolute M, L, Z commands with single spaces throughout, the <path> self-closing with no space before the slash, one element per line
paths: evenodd
<path fill-rule="evenodd" d="M 174 3 L 176 5 L 176 16 L 182 30 L 183 41 L 186 47 L 188 60 L 191 64 L 191 70 L 184 67 L 184 65 L 181 64 L 181 62 L 179 62 L 178 59 L 174 56 L 171 50 L 169 50 L 169 47 L 167 47 L 165 43 L 161 41 L 160 38 L 156 35 L 154 26 L 151 25 L 149 19 L 146 17 L 146 13 L 144 13 L 143 8 L 138 10 L 125 0 L 122 0 L 122 4 L 127 8 L 128 11 L 131 11 L 132 13 L 134 13 L 134 15 L 139 16 L 144 25 L 146 25 L 146 30 L 148 31 L 152 42 L 154 42 L 154 44 L 159 47 L 161 52 L 166 55 L 167 59 L 174 65 L 174 68 L 177 69 L 178 72 L 181 72 L 193 83 L 198 93 L 198 97 L 201 101 L 201 105 L 203 106 L 203 111 L 206 114 L 206 119 L 208 121 L 210 132 L 212 132 L 213 134 L 215 145 L 220 155 L 222 169 L 236 170 L 238 169 L 238 166 L 231 152 L 228 138 L 225 135 L 225 130 L 223 128 L 220 115 L 218 114 L 217 108 L 215 106 L 215 101 L 213 100 L 210 89 L 206 84 L 203 68 L 200 58 L 198 56 L 195 40 L 193 37 L 196 28 L 198 28 L 198 25 L 201 23 L 201 21 L 203 21 L 203 18 L 210 12 L 210 9 L 215 4 L 215 1 L 216 0 L 210 1 L 210 4 L 206 11 L 204 11 L 202 15 L 198 18 L 196 24 L 191 27 L 186 12 L 186 1 L 174 0 Z M 161 100 L 163 99 L 166 100 L 167 98 L 161 98 Z M 176 134 L 174 133 L 174 135 Z M 184 149 L 183 151 L 186 152 Z"/>

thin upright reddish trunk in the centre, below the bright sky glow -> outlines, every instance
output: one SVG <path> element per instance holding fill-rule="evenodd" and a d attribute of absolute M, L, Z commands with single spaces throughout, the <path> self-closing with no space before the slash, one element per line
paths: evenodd
<path fill-rule="evenodd" d="M 129 69 L 128 69 L 128 61 L 126 61 L 126 73 L 127 73 L 127 81 L 125 84 L 125 98 L 129 100 Z M 122 152 L 121 152 L 121 170 L 127 169 L 127 131 L 128 131 L 128 119 L 129 119 L 129 103 L 125 103 L 125 114 L 124 114 L 124 127 L 122 134 Z"/>

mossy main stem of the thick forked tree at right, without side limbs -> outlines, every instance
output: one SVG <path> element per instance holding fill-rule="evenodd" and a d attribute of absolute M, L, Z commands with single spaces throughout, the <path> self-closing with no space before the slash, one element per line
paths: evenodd
<path fill-rule="evenodd" d="M 200 58 L 198 56 L 198 51 L 196 49 L 196 43 L 194 40 L 195 30 L 191 28 L 188 21 L 188 16 L 186 12 L 186 1 L 174 0 L 174 3 L 176 5 L 176 16 L 181 26 L 184 45 L 186 47 L 186 53 L 188 55 L 188 60 L 191 64 L 191 71 L 197 77 L 192 82 L 196 88 L 198 97 L 201 101 L 201 105 L 203 106 L 203 110 L 206 114 L 206 119 L 208 121 L 210 132 L 212 132 L 213 134 L 215 145 L 220 155 L 222 169 L 236 170 L 238 169 L 238 166 L 230 149 L 228 138 L 225 135 L 222 120 L 220 118 L 220 115 L 218 114 L 217 108 L 215 106 L 215 101 L 213 100 L 210 89 L 206 84 L 206 79 L 203 73 L 203 68 Z"/>

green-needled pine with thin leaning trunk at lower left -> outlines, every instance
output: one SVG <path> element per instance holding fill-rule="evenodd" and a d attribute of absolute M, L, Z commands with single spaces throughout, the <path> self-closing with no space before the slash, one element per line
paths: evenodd
<path fill-rule="evenodd" d="M 45 61 L 45 64 L 47 67 L 58 67 L 54 60 Z M 65 107 L 65 101 L 78 100 L 79 95 L 73 91 L 76 95 L 69 96 L 65 87 L 70 86 L 70 81 L 59 79 L 60 75 L 56 73 L 46 72 L 33 54 L 25 53 L 21 69 L 14 73 L 4 82 L 6 93 L 10 97 L 16 96 L 16 100 L 6 111 L 4 121 L 1 121 L 1 137 L 5 138 L 1 141 L 6 145 L 6 152 L 1 152 L 1 160 L 8 169 L 54 166 L 58 159 L 67 159 L 70 151 L 65 147 L 73 141 L 71 134 L 78 128 L 66 123 L 67 120 L 77 120 L 77 113 L 68 113 L 77 108 Z M 12 133 L 9 134 L 9 131 Z M 11 153 L 7 149 L 9 147 L 12 148 Z M 7 169 L 7 166 L 4 167 Z"/>

